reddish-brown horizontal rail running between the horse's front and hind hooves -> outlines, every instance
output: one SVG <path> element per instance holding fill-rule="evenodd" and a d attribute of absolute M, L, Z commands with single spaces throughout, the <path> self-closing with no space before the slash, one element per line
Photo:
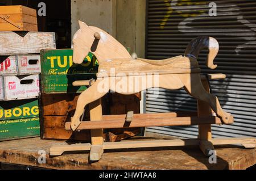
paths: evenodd
<path fill-rule="evenodd" d="M 104 116 L 105 117 L 105 116 Z M 198 124 L 221 124 L 218 117 L 158 117 L 151 119 L 133 119 L 127 124 L 126 119 L 113 119 L 103 121 L 82 121 L 77 129 L 110 129 L 110 128 L 136 128 L 136 127 L 161 127 Z M 71 129 L 71 123 L 65 124 L 65 129 Z"/>

